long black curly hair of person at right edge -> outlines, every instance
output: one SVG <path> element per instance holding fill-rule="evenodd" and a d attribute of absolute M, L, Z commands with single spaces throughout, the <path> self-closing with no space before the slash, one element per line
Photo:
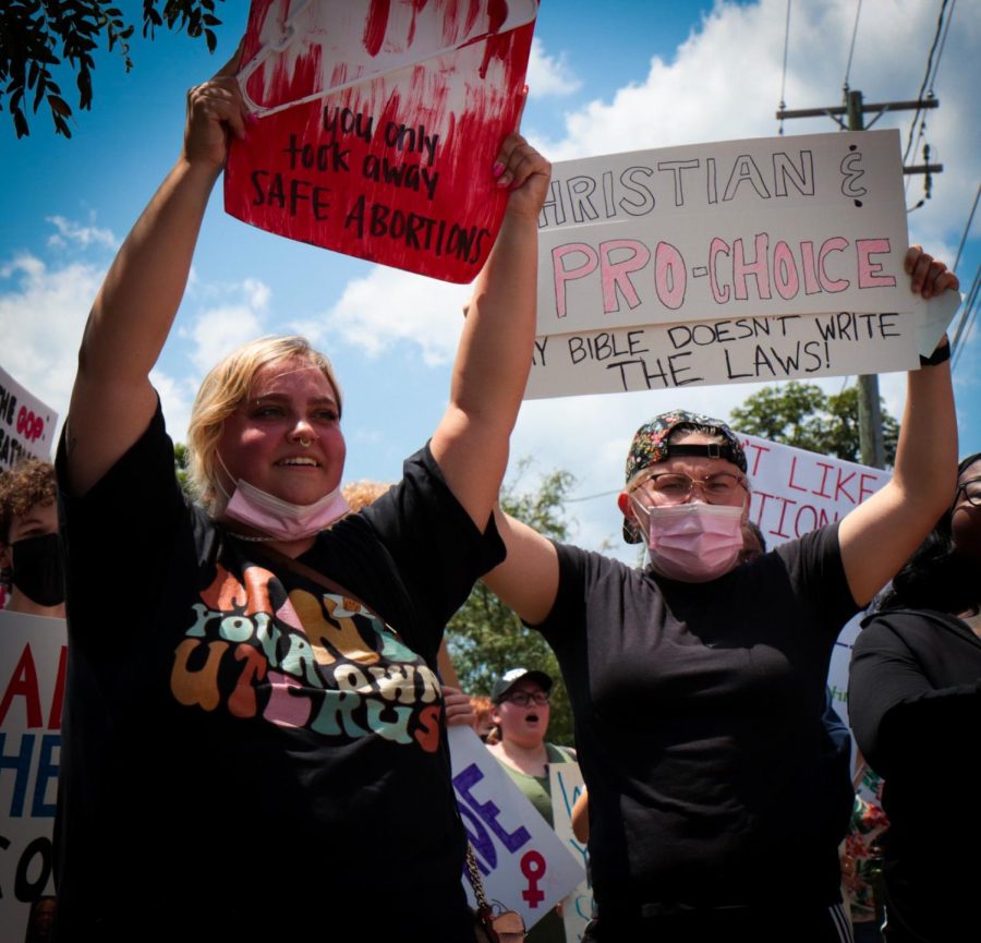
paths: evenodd
<path fill-rule="evenodd" d="M 957 467 L 958 480 L 979 459 L 981 452 L 964 459 Z M 956 495 L 934 529 L 893 578 L 892 587 L 879 604 L 881 609 L 962 613 L 979 607 L 981 581 L 978 580 L 978 565 L 958 554 L 954 545 L 950 521 L 955 503 Z"/>

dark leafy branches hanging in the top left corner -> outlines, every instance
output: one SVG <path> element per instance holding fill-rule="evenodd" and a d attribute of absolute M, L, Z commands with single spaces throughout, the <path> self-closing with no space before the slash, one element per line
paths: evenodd
<path fill-rule="evenodd" d="M 214 52 L 216 0 L 143 0 L 143 35 L 153 39 L 157 27 L 183 29 L 204 38 Z M 221 0 L 218 0 L 221 2 Z M 57 72 L 74 75 L 78 108 L 92 108 L 94 53 L 105 40 L 118 52 L 126 72 L 133 68 L 130 39 L 134 26 L 112 5 L 113 0 L 3 0 L 0 4 L 0 110 L 4 101 L 17 137 L 29 134 L 26 111 L 48 106 L 55 132 L 71 137 L 65 101 Z M 161 9 L 157 9 L 161 8 Z"/>

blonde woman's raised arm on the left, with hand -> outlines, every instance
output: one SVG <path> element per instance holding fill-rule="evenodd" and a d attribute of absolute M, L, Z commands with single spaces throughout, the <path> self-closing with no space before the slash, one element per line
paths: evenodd
<path fill-rule="evenodd" d="M 65 425 L 69 487 L 87 492 L 142 435 L 154 413 L 149 383 L 180 306 L 227 135 L 244 135 L 234 81 L 239 53 L 187 93 L 184 145 L 116 256 L 78 351 Z"/>

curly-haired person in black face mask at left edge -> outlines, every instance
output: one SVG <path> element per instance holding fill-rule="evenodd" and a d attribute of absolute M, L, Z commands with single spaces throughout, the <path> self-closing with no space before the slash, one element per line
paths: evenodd
<path fill-rule="evenodd" d="M 64 576 L 50 462 L 24 459 L 0 475 L 0 572 L 9 587 L 9 612 L 64 618 Z"/>

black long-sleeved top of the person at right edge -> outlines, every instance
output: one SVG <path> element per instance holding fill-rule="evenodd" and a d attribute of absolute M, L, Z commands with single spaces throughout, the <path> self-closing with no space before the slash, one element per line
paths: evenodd
<path fill-rule="evenodd" d="M 889 939 L 967 939 L 981 846 L 981 639 L 928 609 L 883 612 L 863 625 L 848 713 L 859 748 L 885 779 Z"/>

